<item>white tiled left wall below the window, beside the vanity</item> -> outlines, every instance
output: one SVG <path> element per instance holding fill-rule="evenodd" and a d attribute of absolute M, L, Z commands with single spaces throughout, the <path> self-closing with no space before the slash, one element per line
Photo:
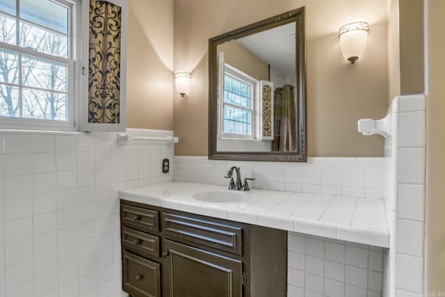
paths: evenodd
<path fill-rule="evenodd" d="M 121 296 L 118 191 L 171 181 L 173 145 L 116 141 L 0 134 L 0 296 Z"/>

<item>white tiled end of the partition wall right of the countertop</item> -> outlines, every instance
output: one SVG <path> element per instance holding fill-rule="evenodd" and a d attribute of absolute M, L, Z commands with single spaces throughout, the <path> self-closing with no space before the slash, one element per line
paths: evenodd
<path fill-rule="evenodd" d="M 391 234 L 384 255 L 383 296 L 423 296 L 425 98 L 396 97 L 385 139 L 385 204 Z"/>

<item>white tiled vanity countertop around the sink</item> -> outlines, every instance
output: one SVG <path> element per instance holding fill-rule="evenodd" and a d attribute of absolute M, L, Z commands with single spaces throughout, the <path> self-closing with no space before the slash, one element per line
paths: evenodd
<path fill-rule="evenodd" d="M 168 182 L 120 191 L 120 198 L 242 223 L 389 247 L 383 200 L 251 189 L 243 202 L 205 202 L 193 195 L 225 186 Z"/>

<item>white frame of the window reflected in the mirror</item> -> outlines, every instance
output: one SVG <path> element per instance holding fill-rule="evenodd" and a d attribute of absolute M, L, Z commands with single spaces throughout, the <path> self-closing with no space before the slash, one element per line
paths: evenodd
<path fill-rule="evenodd" d="M 238 81 L 242 81 L 243 83 L 246 83 L 250 85 L 250 109 L 245 109 L 241 106 L 227 104 L 224 102 L 224 81 L 225 81 L 225 75 L 229 75 L 230 77 L 234 77 L 234 79 L 237 79 Z M 250 75 L 245 74 L 241 70 L 236 69 L 236 67 L 233 67 L 232 65 L 229 65 L 227 63 L 224 64 L 224 72 L 220 79 L 220 88 L 221 88 L 221 96 L 220 96 L 220 127 L 221 127 L 221 133 L 220 138 L 225 139 L 243 139 L 243 140 L 257 140 L 259 136 L 259 81 L 255 79 L 254 77 L 250 77 Z M 252 112 L 251 119 L 250 119 L 250 131 L 251 134 L 231 134 L 231 133 L 224 133 L 224 106 L 234 106 L 237 109 L 244 109 L 244 110 L 250 110 Z"/>

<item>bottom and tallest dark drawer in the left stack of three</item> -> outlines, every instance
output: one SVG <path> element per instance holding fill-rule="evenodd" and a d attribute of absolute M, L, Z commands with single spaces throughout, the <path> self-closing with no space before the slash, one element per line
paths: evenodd
<path fill-rule="evenodd" d="M 133 297 L 161 297 L 161 266 L 158 263 L 122 252 L 124 291 Z"/>

